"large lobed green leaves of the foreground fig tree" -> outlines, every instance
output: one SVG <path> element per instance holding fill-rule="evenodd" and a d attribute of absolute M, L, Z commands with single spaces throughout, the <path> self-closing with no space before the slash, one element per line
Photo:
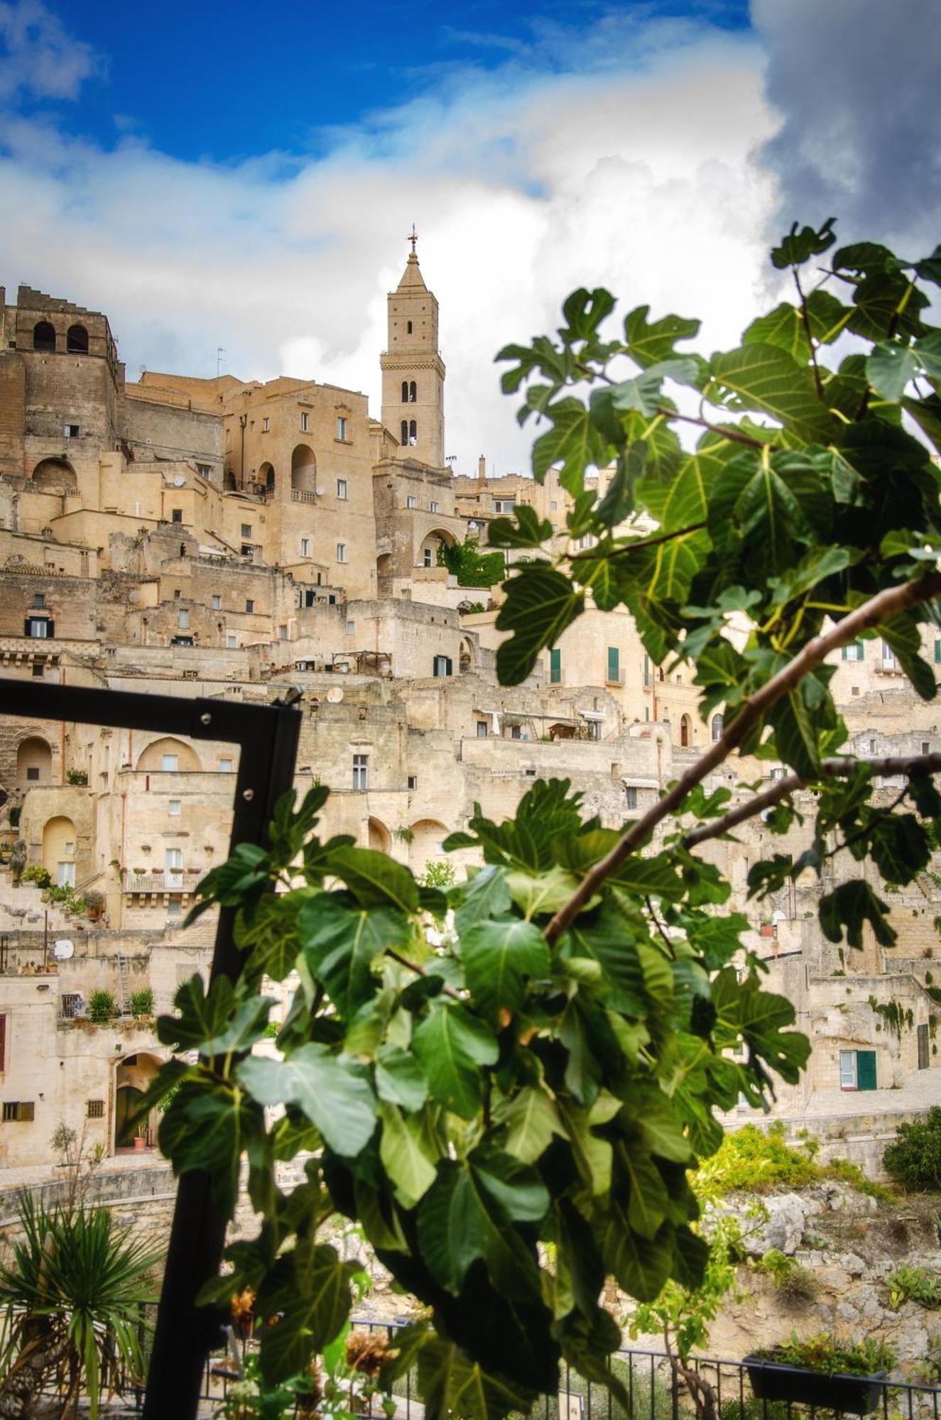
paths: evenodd
<path fill-rule="evenodd" d="M 832 241 L 832 223 L 795 230 L 773 260 L 816 268 Z M 623 605 L 657 665 L 689 665 L 701 714 L 721 709 L 725 734 L 621 829 L 587 815 L 567 781 L 534 784 L 502 824 L 475 805 L 445 849 L 473 849 L 483 866 L 446 888 L 350 838 L 321 842 L 323 787 L 300 805 L 286 795 L 267 843 L 239 845 L 203 880 L 190 920 L 232 907 L 243 971 L 208 993 L 199 978 L 181 987 L 158 1034 L 193 1062 L 165 1065 L 142 1108 L 172 1093 L 161 1149 L 178 1174 L 209 1173 L 227 1217 L 247 1156 L 260 1231 L 229 1250 L 232 1271 L 203 1301 L 252 1288 L 259 1315 L 277 1318 L 263 1331 L 266 1384 L 303 1373 L 345 1325 L 350 1264 L 318 1233 L 341 1214 L 426 1309 L 387 1379 L 414 1369 L 429 1416 L 526 1411 L 557 1389 L 563 1362 L 624 1403 L 606 1278 L 660 1308 L 687 1349 L 733 1285 L 739 1244 L 718 1221 L 699 1231 L 691 1172 L 706 1194 L 722 1179 L 819 1176 L 758 1130 L 708 1162 L 718 1116 L 741 1096 L 766 1108 L 776 1078 L 797 1082 L 809 1044 L 792 1003 L 763 990 L 742 947 L 748 922 L 724 913 L 731 888 L 688 834 L 721 832 L 728 794 L 706 795 L 698 778 L 739 748 L 790 765 L 817 802 L 797 862 L 782 852 L 752 866 L 758 897 L 822 873 L 837 851 L 904 885 L 938 841 L 930 780 L 913 775 L 884 807 L 864 764 L 820 775 L 846 730 L 812 645 L 864 608 L 833 646 L 878 632 L 918 693 L 935 694 L 920 645 L 941 619 L 941 476 L 908 432 L 914 422 L 931 440 L 938 423 L 918 285 L 934 271 L 874 246 L 836 251 L 826 290 L 782 302 L 709 358 L 688 354 L 697 321 L 650 321 L 647 307 L 623 339 L 603 337 L 614 298 L 577 291 L 557 341 L 503 352 L 505 389 L 525 388 L 520 419 L 543 425 L 533 471 L 559 467 L 574 508 L 560 552 L 546 551 L 552 527 L 532 508 L 490 525 L 495 548 L 520 554 L 498 618 L 500 680 L 520 683 L 586 605 Z M 841 331 L 859 348 L 833 368 Z M 681 415 L 674 386 L 701 413 Z M 691 420 L 692 449 L 679 439 Z M 586 476 L 608 463 L 598 500 Z M 793 816 L 782 805 L 769 834 Z M 823 896 L 833 940 L 894 940 L 870 876 Z M 271 1004 L 263 980 L 293 971 L 277 1052 L 253 1055 Z M 276 1164 L 299 1154 L 304 1181 L 289 1193 Z"/>

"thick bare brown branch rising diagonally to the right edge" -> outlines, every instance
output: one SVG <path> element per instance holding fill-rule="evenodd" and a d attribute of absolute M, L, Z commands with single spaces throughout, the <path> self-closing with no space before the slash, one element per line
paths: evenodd
<path fill-rule="evenodd" d="M 728 758 L 732 750 L 739 747 L 752 726 L 760 720 L 760 717 L 770 710 L 772 706 L 778 704 L 782 696 L 786 696 L 789 690 L 793 690 L 795 686 L 800 684 L 803 677 L 810 670 L 826 660 L 830 652 L 839 650 L 840 646 L 846 646 L 849 642 L 856 640 L 861 632 L 870 630 L 870 628 L 878 626 L 891 616 L 897 616 L 900 612 L 908 611 L 910 606 L 918 606 L 921 602 L 927 602 L 940 594 L 941 572 L 928 572 L 925 577 L 913 582 L 904 582 L 901 586 L 888 586 L 886 591 L 877 592 L 876 596 L 871 596 L 867 602 L 863 602 L 861 606 L 857 606 L 854 612 L 850 612 L 849 616 L 839 621 L 830 630 L 809 640 L 807 645 L 797 652 L 793 660 L 783 667 L 783 670 L 779 670 L 776 676 L 772 676 L 770 680 L 760 686 L 745 701 L 722 737 L 709 746 L 705 754 L 702 754 L 699 760 L 697 760 L 697 763 L 687 770 L 674 787 L 668 790 L 662 798 L 652 805 L 652 808 L 648 808 L 647 812 L 642 814 L 641 818 L 638 818 L 627 829 L 627 832 L 621 835 L 614 848 L 606 853 L 588 873 L 586 873 L 564 907 L 560 907 L 546 926 L 546 941 L 552 944 L 566 930 L 569 923 L 579 916 L 584 905 L 594 896 L 604 879 L 615 872 L 624 859 L 647 841 L 652 829 L 664 818 L 667 818 L 668 814 L 672 814 L 677 808 L 679 808 L 689 791 L 694 790 L 697 784 L 701 784 L 706 774 L 711 774 L 712 770 L 718 768 L 718 765 Z"/>

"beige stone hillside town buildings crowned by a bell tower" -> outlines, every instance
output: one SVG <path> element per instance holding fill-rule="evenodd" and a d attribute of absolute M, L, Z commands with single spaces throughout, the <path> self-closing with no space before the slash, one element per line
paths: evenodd
<path fill-rule="evenodd" d="M 498 684 L 499 584 L 461 585 L 441 548 L 485 545 L 492 518 L 525 503 L 564 551 L 571 498 L 554 470 L 537 484 L 490 477 L 483 459 L 476 476 L 446 464 L 438 302 L 414 250 L 388 295 L 380 419 L 362 393 L 289 376 L 129 383 L 104 314 L 28 287 L 13 304 L 0 290 L 0 677 L 242 703 L 296 687 L 296 781 L 330 787 L 324 831 L 418 873 L 475 802 L 500 819 L 540 777 L 570 778 L 618 825 L 721 733 L 721 714 L 698 719 L 689 669 L 652 665 L 624 612 L 590 608 L 525 684 Z M 596 477 L 604 491 L 610 470 Z M 927 649 L 941 663 L 941 642 Z M 833 684 L 857 751 L 941 746 L 937 711 L 880 642 L 847 648 Z M 779 770 L 725 765 L 716 782 Z M 225 744 L 14 720 L 0 700 L 7 1167 L 41 1167 L 60 1120 L 108 1153 L 134 1147 L 131 1092 L 161 1049 L 132 997 L 169 1008 L 208 968 L 210 916 L 182 920 L 226 856 L 236 771 Z M 14 843 L 58 902 L 17 883 Z M 873 1163 L 871 1139 L 938 1095 L 941 878 L 893 900 L 894 953 L 840 953 L 820 937 L 816 882 L 748 902 L 762 852 L 760 821 L 709 845 L 817 1042 L 779 1113 L 824 1139 L 866 1120 Z M 121 1014 L 92 1021 L 94 991 Z"/>

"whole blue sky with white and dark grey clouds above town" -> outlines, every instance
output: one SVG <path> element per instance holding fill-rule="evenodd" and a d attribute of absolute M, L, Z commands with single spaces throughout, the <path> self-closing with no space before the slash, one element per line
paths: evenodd
<path fill-rule="evenodd" d="M 0 0 L 0 285 L 104 310 L 128 378 L 277 373 L 378 415 L 415 222 L 446 452 L 529 464 L 493 355 L 577 285 L 728 348 L 792 220 L 941 240 L 938 0 Z"/>

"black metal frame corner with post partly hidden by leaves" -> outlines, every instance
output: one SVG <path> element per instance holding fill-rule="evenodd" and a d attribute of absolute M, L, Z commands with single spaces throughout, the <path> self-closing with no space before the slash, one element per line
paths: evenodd
<path fill-rule="evenodd" d="M 230 849 L 262 843 L 276 801 L 294 780 L 301 716 L 287 704 L 233 704 L 227 700 L 97 690 L 85 686 L 37 686 L 0 679 L 0 714 L 28 720 L 154 730 L 190 740 L 237 744 Z M 235 912 L 219 913 L 210 981 L 237 980 L 242 964 L 233 939 Z M 219 1346 L 219 1316 L 196 1306 L 199 1288 L 219 1271 L 226 1218 L 209 1193 L 209 1174 L 185 1173 L 166 1254 L 163 1289 L 156 1314 L 148 1370 L 145 1420 L 192 1420 L 199 1406 L 203 1365 Z"/>

